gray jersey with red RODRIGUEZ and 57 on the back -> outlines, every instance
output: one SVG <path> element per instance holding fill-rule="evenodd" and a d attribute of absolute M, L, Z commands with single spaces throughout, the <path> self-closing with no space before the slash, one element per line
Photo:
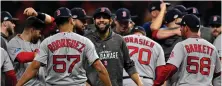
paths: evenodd
<path fill-rule="evenodd" d="M 48 85 L 82 86 L 87 77 L 84 64 L 98 59 L 93 43 L 73 32 L 61 32 L 46 38 L 35 60 L 47 67 Z"/>

